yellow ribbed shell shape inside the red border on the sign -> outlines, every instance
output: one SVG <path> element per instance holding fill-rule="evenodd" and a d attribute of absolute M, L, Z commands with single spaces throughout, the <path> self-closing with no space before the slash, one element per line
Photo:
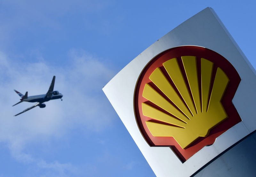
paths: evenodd
<path fill-rule="evenodd" d="M 189 89 L 181 73 L 177 58 L 163 63 L 164 69 L 171 77 L 179 94 L 172 87 L 160 68 L 156 68 L 149 79 L 177 106 L 173 106 L 160 93 L 146 84 L 142 96 L 173 116 L 155 107 L 142 103 L 143 115 L 172 125 L 147 121 L 149 131 L 153 136 L 172 136 L 185 149 L 200 136 L 208 136 L 210 130 L 228 118 L 221 99 L 227 88 L 229 79 L 220 69 L 217 69 L 212 90 L 213 63 L 201 58 L 201 89 L 199 89 L 197 63 L 195 56 L 182 56 Z M 190 96 L 190 92 L 192 98 Z M 209 99 L 210 97 L 210 99 Z"/>

